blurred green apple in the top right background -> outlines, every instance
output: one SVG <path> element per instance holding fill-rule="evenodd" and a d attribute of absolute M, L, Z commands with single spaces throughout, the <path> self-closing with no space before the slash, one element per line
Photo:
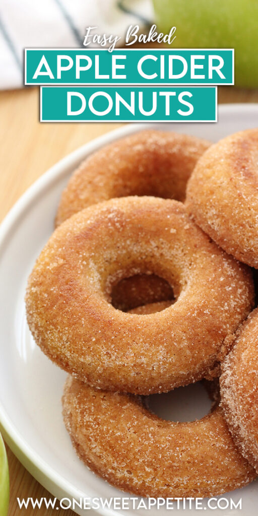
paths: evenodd
<path fill-rule="evenodd" d="M 164 34 L 175 26 L 174 48 L 235 49 L 235 84 L 258 87 L 257 0 L 153 0 Z"/>

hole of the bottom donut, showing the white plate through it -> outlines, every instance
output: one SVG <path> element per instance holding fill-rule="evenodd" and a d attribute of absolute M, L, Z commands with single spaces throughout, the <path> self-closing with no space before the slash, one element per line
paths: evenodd
<path fill-rule="evenodd" d="M 152 394 L 145 399 L 148 408 L 157 416 L 182 423 L 201 419 L 213 405 L 202 382 L 178 387 L 168 393 Z"/>

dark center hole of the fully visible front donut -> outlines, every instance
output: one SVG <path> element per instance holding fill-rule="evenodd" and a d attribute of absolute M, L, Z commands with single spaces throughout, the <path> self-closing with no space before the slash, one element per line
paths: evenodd
<path fill-rule="evenodd" d="M 144 310 L 154 313 L 175 302 L 174 291 L 168 281 L 156 274 L 146 273 L 121 279 L 112 286 L 110 298 L 112 306 L 122 312 L 151 304 Z"/>

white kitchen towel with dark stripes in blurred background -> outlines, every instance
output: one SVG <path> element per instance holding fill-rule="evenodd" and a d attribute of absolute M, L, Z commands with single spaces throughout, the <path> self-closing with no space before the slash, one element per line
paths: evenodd
<path fill-rule="evenodd" d="M 122 45 L 129 25 L 152 20 L 151 0 L 1 0 L 0 89 L 24 86 L 25 47 L 82 47 L 88 26 Z"/>

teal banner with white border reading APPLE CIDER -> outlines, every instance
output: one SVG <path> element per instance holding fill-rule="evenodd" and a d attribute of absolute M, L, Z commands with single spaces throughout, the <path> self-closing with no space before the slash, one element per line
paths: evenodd
<path fill-rule="evenodd" d="M 233 49 L 25 49 L 25 84 L 234 84 Z"/>

